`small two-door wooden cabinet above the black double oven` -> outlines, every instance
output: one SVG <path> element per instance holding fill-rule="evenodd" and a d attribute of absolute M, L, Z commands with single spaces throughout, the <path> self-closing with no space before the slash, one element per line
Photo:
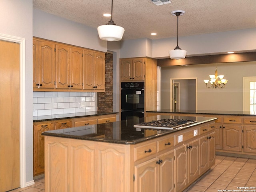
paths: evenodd
<path fill-rule="evenodd" d="M 120 59 L 120 78 L 122 82 L 145 80 L 145 58 Z"/>

